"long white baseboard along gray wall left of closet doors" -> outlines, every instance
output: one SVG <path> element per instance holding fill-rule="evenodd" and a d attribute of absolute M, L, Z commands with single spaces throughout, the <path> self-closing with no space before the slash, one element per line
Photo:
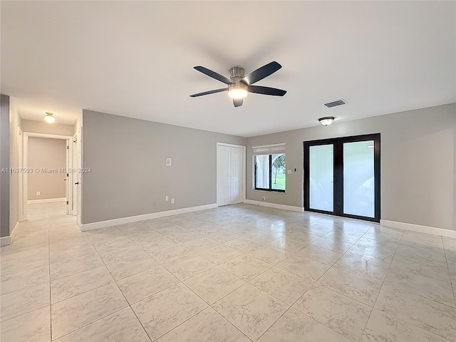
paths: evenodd
<path fill-rule="evenodd" d="M 107 221 L 93 222 L 82 224 L 81 231 L 86 232 L 92 229 L 104 228 L 115 226 L 116 224 L 125 224 L 145 221 L 146 219 L 157 219 L 159 217 L 167 217 L 178 214 L 185 214 L 187 212 L 197 212 L 199 210 L 213 209 L 217 208 L 217 204 L 205 204 L 199 205 L 197 207 L 188 207 L 182 209 L 167 210 L 166 212 L 152 212 L 151 214 L 143 214 L 130 217 L 121 217 L 120 219 L 108 219 Z"/>

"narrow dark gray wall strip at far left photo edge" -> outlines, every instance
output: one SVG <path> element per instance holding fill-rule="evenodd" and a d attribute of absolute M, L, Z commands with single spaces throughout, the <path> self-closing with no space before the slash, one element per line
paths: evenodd
<path fill-rule="evenodd" d="M 9 169 L 9 96 L 7 95 L 0 95 L 0 167 Z M 1 172 L 0 237 L 7 236 L 9 236 L 9 172 Z"/>

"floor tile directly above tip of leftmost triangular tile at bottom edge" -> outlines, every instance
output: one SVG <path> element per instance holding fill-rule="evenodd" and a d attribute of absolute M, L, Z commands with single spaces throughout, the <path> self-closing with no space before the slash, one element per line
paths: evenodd
<path fill-rule="evenodd" d="M 128 303 L 133 304 L 177 284 L 178 280 L 163 266 L 155 265 L 147 271 L 117 281 Z"/>

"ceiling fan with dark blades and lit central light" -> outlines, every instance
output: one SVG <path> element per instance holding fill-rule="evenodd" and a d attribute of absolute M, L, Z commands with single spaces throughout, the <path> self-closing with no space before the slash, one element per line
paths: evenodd
<path fill-rule="evenodd" d="M 234 66 L 229 69 L 229 78 L 216 73 L 215 71 L 204 68 L 204 66 L 195 66 L 195 70 L 204 73 L 205 75 L 215 78 L 216 80 L 226 83 L 228 87 L 219 88 L 209 91 L 204 91 L 202 93 L 197 93 L 190 95 L 192 98 L 197 96 L 209 95 L 214 93 L 220 93 L 222 91 L 228 90 L 228 95 L 233 98 L 234 107 L 239 107 L 242 105 L 244 98 L 247 96 L 247 93 L 257 93 L 263 95 L 273 95 L 273 96 L 283 96 L 286 94 L 286 90 L 281 90 L 277 88 L 269 88 L 263 86 L 252 86 L 253 83 L 261 81 L 263 78 L 271 75 L 278 71 L 282 66 L 277 62 L 271 62 L 265 66 L 261 66 L 249 75 L 244 76 L 244 68 L 240 66 Z"/>

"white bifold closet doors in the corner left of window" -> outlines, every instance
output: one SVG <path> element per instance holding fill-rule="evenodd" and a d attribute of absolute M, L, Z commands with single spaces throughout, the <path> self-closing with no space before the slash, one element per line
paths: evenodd
<path fill-rule="evenodd" d="M 217 142 L 217 205 L 244 202 L 245 146 Z"/>

